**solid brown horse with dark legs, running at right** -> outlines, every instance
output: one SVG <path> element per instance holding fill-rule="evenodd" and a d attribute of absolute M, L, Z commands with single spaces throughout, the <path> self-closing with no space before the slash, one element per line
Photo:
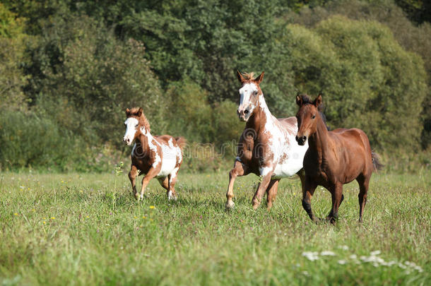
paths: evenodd
<path fill-rule="evenodd" d="M 380 169 L 377 154 L 373 153 L 370 141 L 360 129 L 335 129 L 328 131 L 318 112 L 322 96 L 312 102 L 307 95 L 298 95 L 296 103 L 300 109 L 296 114 L 299 145 L 308 143 L 304 157 L 305 179 L 302 181 L 302 207 L 309 218 L 317 222 L 310 205 L 317 186 L 331 192 L 332 208 L 326 220 L 334 224 L 338 220 L 338 208 L 343 202 L 343 184 L 356 179 L 359 184 L 359 221 L 367 203 L 367 192 L 373 171 Z"/>

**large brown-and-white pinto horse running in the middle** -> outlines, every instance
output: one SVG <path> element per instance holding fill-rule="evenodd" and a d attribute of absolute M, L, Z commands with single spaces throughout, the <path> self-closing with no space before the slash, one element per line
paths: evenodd
<path fill-rule="evenodd" d="M 252 199 L 253 208 L 256 210 L 259 207 L 266 192 L 267 208 L 270 210 L 280 179 L 294 174 L 303 177 L 302 160 L 307 145 L 301 146 L 295 141 L 295 117 L 276 119 L 269 111 L 259 87 L 264 73 L 254 78 L 254 73 L 244 73 L 243 76 L 237 71 L 237 78 L 242 84 L 237 115 L 246 125 L 237 146 L 234 167 L 229 172 L 225 206 L 231 209 L 235 205 L 232 201 L 235 179 L 253 173 L 261 177 Z"/>

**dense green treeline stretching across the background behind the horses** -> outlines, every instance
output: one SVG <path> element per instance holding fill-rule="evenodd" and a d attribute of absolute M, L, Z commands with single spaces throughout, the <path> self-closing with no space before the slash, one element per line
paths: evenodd
<path fill-rule="evenodd" d="M 422 153 L 429 164 L 430 7 L 285 2 L 1 1 L 1 169 L 110 169 L 128 152 L 131 106 L 153 133 L 230 157 L 243 127 L 237 69 L 266 72 L 278 117 L 295 114 L 297 93 L 321 92 L 331 127 L 361 128 L 387 158 Z M 199 150 L 188 167 L 220 167 Z"/>

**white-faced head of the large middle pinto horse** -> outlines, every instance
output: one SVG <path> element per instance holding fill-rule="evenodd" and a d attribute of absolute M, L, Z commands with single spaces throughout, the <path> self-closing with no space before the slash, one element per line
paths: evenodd
<path fill-rule="evenodd" d="M 241 121 L 247 121 L 252 116 L 254 109 L 259 105 L 259 96 L 263 96 L 259 84 L 264 79 L 264 73 L 261 73 L 257 78 L 253 78 L 253 73 L 245 74 L 244 77 L 240 71 L 237 71 L 237 76 L 242 84 L 237 114 Z"/>

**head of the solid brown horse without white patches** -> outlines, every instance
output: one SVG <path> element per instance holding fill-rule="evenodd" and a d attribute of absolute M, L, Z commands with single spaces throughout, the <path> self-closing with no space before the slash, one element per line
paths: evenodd
<path fill-rule="evenodd" d="M 320 118 L 319 106 L 322 104 L 321 95 L 312 102 L 308 95 L 297 95 L 296 104 L 300 110 L 296 114 L 297 136 L 299 145 L 305 145 L 305 141 L 317 131 L 317 119 Z"/>

